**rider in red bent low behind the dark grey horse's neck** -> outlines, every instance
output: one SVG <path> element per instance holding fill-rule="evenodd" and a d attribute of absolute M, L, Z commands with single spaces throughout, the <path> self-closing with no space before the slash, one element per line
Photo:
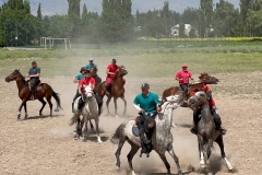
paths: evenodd
<path fill-rule="evenodd" d="M 191 92 L 191 95 L 194 95 L 198 91 L 205 91 L 206 92 L 206 95 L 209 97 L 209 104 L 210 104 L 210 110 L 211 110 L 211 115 L 213 116 L 214 118 L 214 122 L 215 122 L 215 126 L 216 126 L 216 129 L 218 131 L 221 131 L 222 135 L 226 135 L 226 130 L 223 129 L 221 127 L 222 125 L 222 120 L 221 120 L 221 116 L 217 114 L 216 112 L 216 105 L 215 105 L 215 101 L 214 98 L 212 97 L 212 90 L 204 83 L 201 83 L 200 80 L 199 81 L 195 81 L 193 83 L 195 85 L 194 90 Z M 190 131 L 192 133 L 196 133 L 196 126 L 200 121 L 200 115 L 201 115 L 201 109 L 202 108 L 196 108 L 193 110 L 193 121 L 194 121 L 194 126 L 190 129 Z"/>

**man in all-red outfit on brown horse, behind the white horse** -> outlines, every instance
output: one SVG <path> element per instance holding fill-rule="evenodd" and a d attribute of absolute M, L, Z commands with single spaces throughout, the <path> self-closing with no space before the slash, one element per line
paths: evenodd
<path fill-rule="evenodd" d="M 110 92 L 108 90 L 111 86 L 112 80 L 114 80 L 115 74 L 116 74 L 118 69 L 119 69 L 119 66 L 117 66 L 117 60 L 116 59 L 112 59 L 111 63 L 107 66 L 107 70 L 106 70 L 106 73 L 107 73 L 107 77 L 106 77 L 106 89 L 107 89 L 107 92 Z M 124 84 L 126 80 L 122 79 L 122 81 L 123 81 L 123 84 Z"/>

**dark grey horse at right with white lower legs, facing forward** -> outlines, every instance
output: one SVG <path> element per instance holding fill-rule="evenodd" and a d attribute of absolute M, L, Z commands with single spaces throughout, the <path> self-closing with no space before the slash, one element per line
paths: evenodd
<path fill-rule="evenodd" d="M 210 155 L 213 147 L 213 141 L 215 141 L 219 149 L 221 155 L 225 160 L 229 171 L 233 171 L 233 166 L 226 159 L 224 151 L 223 135 L 216 130 L 214 119 L 211 115 L 209 98 L 204 91 L 196 92 L 193 96 L 188 100 L 188 104 L 191 107 L 201 107 L 201 119 L 198 124 L 198 142 L 200 152 L 200 167 L 210 168 Z M 205 148 L 205 150 L 204 150 Z M 206 160 L 204 159 L 206 154 Z"/>

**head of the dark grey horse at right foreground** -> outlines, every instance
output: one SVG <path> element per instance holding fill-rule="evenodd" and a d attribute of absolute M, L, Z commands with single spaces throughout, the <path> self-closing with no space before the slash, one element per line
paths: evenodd
<path fill-rule="evenodd" d="M 209 97 L 204 91 L 196 92 L 188 100 L 188 105 L 192 108 L 198 108 L 205 103 L 209 103 Z"/>

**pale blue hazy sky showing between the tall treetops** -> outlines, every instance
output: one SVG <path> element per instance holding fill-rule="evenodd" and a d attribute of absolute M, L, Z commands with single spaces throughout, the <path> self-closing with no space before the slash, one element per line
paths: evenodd
<path fill-rule="evenodd" d="M 0 5 L 8 0 L 0 0 Z M 102 12 L 103 0 L 81 0 L 81 11 L 85 3 L 88 12 Z M 163 8 L 165 0 L 132 0 L 132 14 L 135 14 L 136 10 L 140 12 L 147 12 L 148 10 L 159 10 Z M 199 8 L 200 0 L 168 0 L 169 9 L 176 12 L 182 13 L 186 8 Z M 214 4 L 219 0 L 214 0 Z M 239 8 L 239 0 L 228 0 Z M 68 0 L 29 0 L 31 11 L 33 15 L 36 15 L 38 4 L 41 3 L 43 15 L 53 14 L 67 14 L 68 12 Z"/>

